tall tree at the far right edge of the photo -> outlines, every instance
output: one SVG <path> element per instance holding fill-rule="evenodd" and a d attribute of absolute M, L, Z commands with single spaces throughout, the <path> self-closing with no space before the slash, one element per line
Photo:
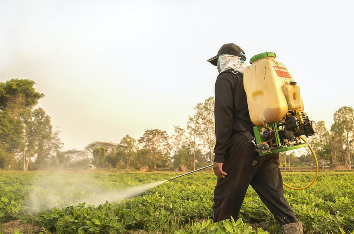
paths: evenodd
<path fill-rule="evenodd" d="M 343 141 L 344 164 L 351 169 L 351 152 L 353 147 L 354 134 L 354 111 L 352 107 L 343 106 L 333 115 L 334 123 L 331 126 L 331 132 L 337 138 L 337 142 Z M 340 146 L 339 146 L 340 147 Z"/>

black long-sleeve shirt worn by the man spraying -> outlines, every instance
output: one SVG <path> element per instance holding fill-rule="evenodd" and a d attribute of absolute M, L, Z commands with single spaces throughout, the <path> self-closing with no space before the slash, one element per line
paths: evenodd
<path fill-rule="evenodd" d="M 215 82 L 214 110 L 216 135 L 214 162 L 224 162 L 225 151 L 232 134 L 242 132 L 235 122 L 236 118 L 253 133 L 242 73 L 231 68 L 218 75 Z M 245 140 L 247 140 L 246 137 Z"/>

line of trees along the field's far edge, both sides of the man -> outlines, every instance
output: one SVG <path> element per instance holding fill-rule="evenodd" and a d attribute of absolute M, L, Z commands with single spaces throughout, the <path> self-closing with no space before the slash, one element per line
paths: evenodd
<path fill-rule="evenodd" d="M 119 143 L 99 142 L 83 150 L 63 151 L 59 131 L 50 116 L 38 106 L 44 94 L 34 82 L 11 79 L 0 83 L 0 168 L 96 167 L 119 169 L 175 169 L 180 165 L 196 169 L 211 163 L 215 145 L 214 97 L 197 103 L 188 116 L 187 128 L 174 126 L 169 136 L 160 129 L 148 129 L 139 139 L 129 135 Z M 330 130 L 318 122 L 318 133 L 310 138 L 319 159 L 330 160 L 333 168 L 350 168 L 353 161 L 353 108 L 335 112 Z"/>

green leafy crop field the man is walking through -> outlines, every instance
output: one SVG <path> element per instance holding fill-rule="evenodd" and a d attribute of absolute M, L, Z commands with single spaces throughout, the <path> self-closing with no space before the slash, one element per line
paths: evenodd
<path fill-rule="evenodd" d="M 126 188 L 174 175 L 3 172 L 0 173 L 0 222 L 4 225 L 9 220 L 21 219 L 45 228 L 43 233 L 58 234 L 280 232 L 279 225 L 251 187 L 239 215 L 242 220 L 212 224 L 216 177 L 211 172 L 162 183 L 130 199 L 117 199 Z M 286 183 L 301 186 L 312 180 L 313 173 L 283 173 L 283 177 Z M 305 233 L 353 233 L 353 183 L 352 172 L 322 172 L 309 189 L 285 188 L 285 197 L 303 222 Z"/>

